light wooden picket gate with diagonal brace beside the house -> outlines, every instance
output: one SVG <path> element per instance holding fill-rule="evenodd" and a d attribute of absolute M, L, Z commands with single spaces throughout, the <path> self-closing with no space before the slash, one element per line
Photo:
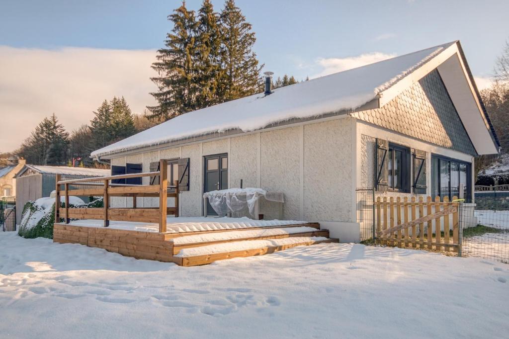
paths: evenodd
<path fill-rule="evenodd" d="M 375 202 L 377 242 L 388 246 L 410 247 L 461 253 L 459 202 L 454 196 L 380 197 Z M 452 231 L 452 235 L 450 234 Z M 452 242 L 451 242 L 452 240 Z"/>

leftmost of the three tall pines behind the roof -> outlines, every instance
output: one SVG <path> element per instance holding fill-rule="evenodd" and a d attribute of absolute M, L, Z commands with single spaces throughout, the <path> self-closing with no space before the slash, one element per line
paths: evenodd
<path fill-rule="evenodd" d="M 200 92 L 196 81 L 198 23 L 194 11 L 188 11 L 183 2 L 168 19 L 174 23 L 173 34 L 168 33 L 167 48 L 157 51 L 158 61 L 152 64 L 159 76 L 151 79 L 159 91 L 151 93 L 158 105 L 147 106 L 151 119 L 168 120 L 199 107 L 196 102 Z"/>

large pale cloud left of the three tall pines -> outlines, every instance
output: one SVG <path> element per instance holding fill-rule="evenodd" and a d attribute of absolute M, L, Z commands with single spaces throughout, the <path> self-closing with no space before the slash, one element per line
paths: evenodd
<path fill-rule="evenodd" d="M 12 151 L 53 112 L 71 131 L 104 99 L 124 96 L 141 113 L 154 104 L 155 50 L 0 46 L 0 152 Z"/>

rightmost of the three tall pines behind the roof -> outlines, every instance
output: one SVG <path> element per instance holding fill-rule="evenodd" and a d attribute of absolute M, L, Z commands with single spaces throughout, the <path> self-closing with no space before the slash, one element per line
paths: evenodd
<path fill-rule="evenodd" d="M 256 41 L 251 24 L 246 22 L 234 0 L 227 0 L 220 14 L 221 23 L 221 68 L 224 76 L 220 80 L 221 101 L 233 100 L 262 89 L 260 72 L 264 65 L 259 66 L 256 53 L 252 46 Z"/>

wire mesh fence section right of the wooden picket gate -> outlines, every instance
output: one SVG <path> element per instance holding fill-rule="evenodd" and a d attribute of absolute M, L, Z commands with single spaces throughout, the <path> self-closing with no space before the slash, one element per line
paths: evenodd
<path fill-rule="evenodd" d="M 509 264 L 509 192 L 475 192 L 460 209 L 463 255 Z"/>

